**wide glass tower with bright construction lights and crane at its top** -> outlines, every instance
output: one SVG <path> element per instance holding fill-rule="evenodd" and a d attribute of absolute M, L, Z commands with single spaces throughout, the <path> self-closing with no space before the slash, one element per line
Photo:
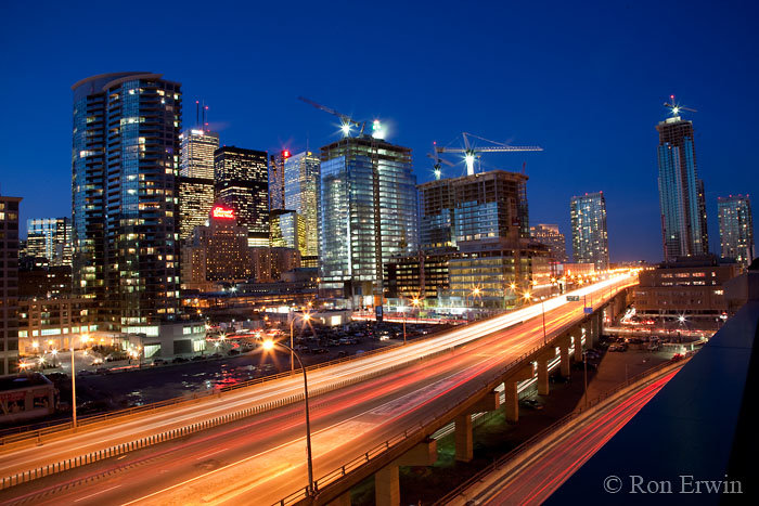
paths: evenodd
<path fill-rule="evenodd" d="M 383 263 L 417 250 L 411 150 L 370 137 L 321 150 L 322 287 L 355 307 L 382 297 Z"/>

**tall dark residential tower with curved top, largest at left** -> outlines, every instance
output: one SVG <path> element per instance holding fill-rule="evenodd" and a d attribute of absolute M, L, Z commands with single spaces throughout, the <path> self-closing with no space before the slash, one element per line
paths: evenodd
<path fill-rule="evenodd" d="M 74 289 L 106 328 L 144 332 L 179 311 L 180 87 L 152 73 L 72 87 Z"/>

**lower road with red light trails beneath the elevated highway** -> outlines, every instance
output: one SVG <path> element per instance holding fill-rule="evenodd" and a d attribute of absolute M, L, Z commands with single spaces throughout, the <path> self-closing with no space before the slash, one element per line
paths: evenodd
<path fill-rule="evenodd" d="M 472 480 L 447 505 L 542 504 L 680 371 L 667 367 L 580 415 L 492 472 Z"/>

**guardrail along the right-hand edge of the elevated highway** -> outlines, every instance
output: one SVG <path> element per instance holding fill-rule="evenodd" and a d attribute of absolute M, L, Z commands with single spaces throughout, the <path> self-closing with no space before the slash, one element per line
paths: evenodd
<path fill-rule="evenodd" d="M 625 286 L 619 286 L 615 285 L 610 287 L 610 290 L 608 293 L 608 298 L 616 296 L 619 291 L 622 289 L 627 289 L 629 286 L 632 286 L 633 284 L 625 284 Z M 602 307 L 606 301 L 603 300 L 606 295 L 602 295 L 602 300 L 597 302 L 597 307 Z M 595 308 L 596 304 L 593 304 Z M 537 317 L 537 316 L 536 316 Z M 551 341 L 556 337 L 561 336 L 563 333 L 565 333 L 567 329 L 574 327 L 577 325 L 577 323 L 570 323 L 563 325 L 558 329 L 554 330 L 552 334 L 554 334 L 554 337 L 551 338 Z M 505 367 L 499 369 L 494 374 L 490 374 L 490 378 L 485 380 L 485 387 L 481 390 L 490 390 L 490 384 L 499 378 L 502 378 L 504 375 L 506 375 L 512 369 L 517 369 L 520 366 L 524 366 L 530 362 L 532 362 L 532 356 L 540 351 L 541 349 L 548 349 L 551 348 L 552 345 L 551 341 L 548 341 L 543 345 L 539 345 L 531 350 L 523 353 L 518 359 L 515 359 L 514 361 L 510 362 Z M 631 379 L 634 379 L 638 376 L 634 376 Z M 326 486 L 329 484 L 332 484 L 339 480 L 340 478 L 344 478 L 347 473 L 363 467 L 365 465 L 369 465 L 372 459 L 376 458 L 378 455 L 389 451 L 390 449 L 397 446 L 399 443 L 406 441 L 407 439 L 413 437 L 413 436 L 419 436 L 420 432 L 427 432 L 425 430 L 426 427 L 435 424 L 436 421 L 440 421 L 441 419 L 449 420 L 450 419 L 450 413 L 455 411 L 458 407 L 461 407 L 462 405 L 465 405 L 467 403 L 471 403 L 471 399 L 473 397 L 477 397 L 480 391 L 475 392 L 473 395 L 467 397 L 466 399 L 456 402 L 453 406 L 446 407 L 445 410 L 441 410 L 438 413 L 435 413 L 434 415 L 425 418 L 424 420 L 414 424 L 413 426 L 404 429 L 402 432 L 397 433 L 396 436 L 387 439 L 386 441 L 377 444 L 376 446 L 372 447 L 368 452 L 365 452 L 363 455 L 360 455 L 352 460 L 349 460 L 347 464 L 340 466 L 339 468 L 327 472 L 326 475 L 322 476 L 321 478 L 318 478 L 314 480 L 314 492 L 318 492 L 320 486 Z M 308 498 L 308 489 L 304 490 L 298 490 L 296 492 L 293 492 L 292 494 L 283 497 L 282 499 L 278 501 L 276 503 L 273 504 L 273 506 L 286 506 L 290 504 L 294 504 L 300 499 Z"/>

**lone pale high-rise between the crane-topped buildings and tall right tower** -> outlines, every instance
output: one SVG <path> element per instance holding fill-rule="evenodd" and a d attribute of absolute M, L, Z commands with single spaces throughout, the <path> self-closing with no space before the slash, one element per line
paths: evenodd
<path fill-rule="evenodd" d="M 604 193 L 587 193 L 571 197 L 569 207 L 575 263 L 592 263 L 596 271 L 608 269 L 608 233 Z"/>

